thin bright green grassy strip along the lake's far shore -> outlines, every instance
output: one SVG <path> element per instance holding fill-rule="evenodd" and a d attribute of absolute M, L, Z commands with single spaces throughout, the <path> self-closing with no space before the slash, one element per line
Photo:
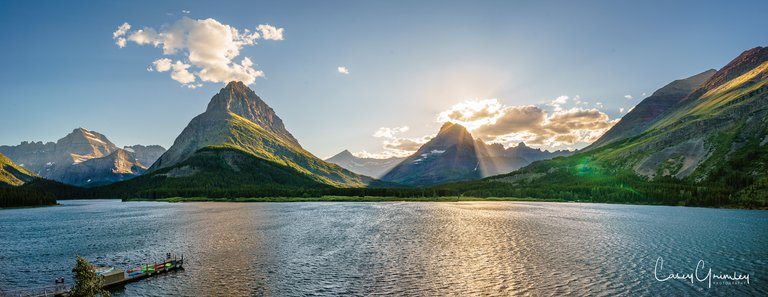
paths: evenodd
<path fill-rule="evenodd" d="M 161 201 L 161 202 L 459 202 L 459 201 L 528 201 L 528 202 L 565 202 L 565 200 L 515 198 L 515 197 L 379 197 L 379 196 L 322 196 L 322 197 L 258 197 L 258 198 L 207 198 L 207 197 L 171 197 L 159 199 L 129 198 L 123 201 Z"/>

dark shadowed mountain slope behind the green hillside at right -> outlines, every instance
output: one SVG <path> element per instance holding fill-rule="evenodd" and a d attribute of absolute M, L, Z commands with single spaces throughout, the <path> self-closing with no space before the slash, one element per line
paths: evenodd
<path fill-rule="evenodd" d="M 685 79 L 675 80 L 656 90 L 651 96 L 645 98 L 624 115 L 621 121 L 611 127 L 597 141 L 586 147 L 585 150 L 598 148 L 616 140 L 639 135 L 656 123 L 660 116 L 664 115 L 673 106 L 685 99 L 688 94 L 709 80 L 715 72 L 717 71 L 710 69 Z"/>

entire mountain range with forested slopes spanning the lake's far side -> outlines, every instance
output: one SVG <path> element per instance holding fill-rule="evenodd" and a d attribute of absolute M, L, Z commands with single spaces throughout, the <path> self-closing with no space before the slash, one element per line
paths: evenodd
<path fill-rule="evenodd" d="M 404 159 L 344 151 L 326 162 L 304 150 L 251 89 L 230 82 L 167 151 L 117 148 L 79 128 L 56 143 L 0 146 L 0 154 L 7 156 L 0 157 L 5 189 L 83 193 L 40 176 L 88 186 L 118 181 L 93 193 L 150 198 L 364 195 L 366 187 L 405 185 L 457 196 L 766 207 L 768 48 L 661 87 L 577 152 L 504 148 L 445 123 Z M 377 193 L 425 194 L 412 190 Z"/>

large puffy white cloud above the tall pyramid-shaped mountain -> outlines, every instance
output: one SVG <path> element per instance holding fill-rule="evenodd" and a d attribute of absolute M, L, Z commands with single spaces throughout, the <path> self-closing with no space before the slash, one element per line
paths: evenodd
<path fill-rule="evenodd" d="M 255 45 L 259 39 L 283 40 L 283 28 L 259 25 L 254 31 L 239 30 L 211 18 L 196 20 L 182 17 L 159 30 L 145 27 L 130 31 L 130 28 L 130 24 L 124 23 L 112 34 L 119 47 L 133 42 L 162 48 L 166 56 L 180 56 L 172 65 L 168 58 L 157 59 L 153 62 L 153 69 L 158 72 L 173 70 L 172 79 L 192 88 L 201 85 L 198 80 L 252 84 L 256 78 L 264 76 L 264 72 L 254 68 L 253 61 L 248 57 L 236 61 L 240 50 L 244 46 Z"/>

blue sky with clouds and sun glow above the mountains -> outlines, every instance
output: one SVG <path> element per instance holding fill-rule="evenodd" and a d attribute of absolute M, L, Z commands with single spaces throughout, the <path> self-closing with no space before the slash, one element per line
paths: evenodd
<path fill-rule="evenodd" d="M 765 1 L 2 1 L 0 144 L 84 127 L 167 148 L 236 79 L 321 158 L 407 155 L 444 121 L 487 142 L 577 149 L 672 80 L 767 45 L 765 11 Z"/>

